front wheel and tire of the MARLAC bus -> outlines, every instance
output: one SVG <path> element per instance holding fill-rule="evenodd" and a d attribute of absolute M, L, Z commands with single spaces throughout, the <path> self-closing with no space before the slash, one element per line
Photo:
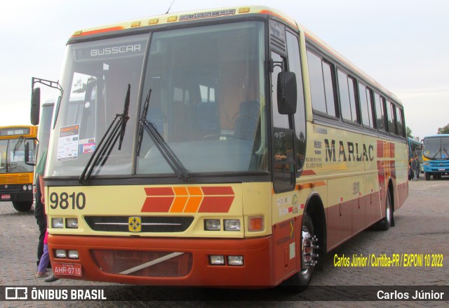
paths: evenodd
<path fill-rule="evenodd" d="M 301 228 L 301 269 L 299 272 L 290 276 L 286 281 L 283 281 L 282 286 L 288 290 L 288 292 L 298 293 L 307 288 L 311 281 L 311 276 L 314 274 L 314 267 L 318 262 L 318 239 L 314 232 L 314 224 L 308 215 L 304 212 L 302 217 Z"/>

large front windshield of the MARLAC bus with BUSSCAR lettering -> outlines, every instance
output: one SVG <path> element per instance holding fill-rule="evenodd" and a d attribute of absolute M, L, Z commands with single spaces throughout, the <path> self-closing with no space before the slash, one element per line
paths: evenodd
<path fill-rule="evenodd" d="M 149 46 L 148 46 L 149 44 Z M 68 45 L 48 176 L 79 176 L 130 85 L 129 119 L 95 175 L 175 176 L 146 122 L 189 173 L 267 170 L 264 24 L 232 24 Z"/>

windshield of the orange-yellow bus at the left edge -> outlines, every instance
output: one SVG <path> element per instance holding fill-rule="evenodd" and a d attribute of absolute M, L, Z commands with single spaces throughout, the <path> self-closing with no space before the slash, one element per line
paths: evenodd
<path fill-rule="evenodd" d="M 30 154 L 31 157 L 34 154 Z M 0 173 L 33 172 L 34 166 L 25 164 L 25 142 L 18 139 L 0 140 Z"/>

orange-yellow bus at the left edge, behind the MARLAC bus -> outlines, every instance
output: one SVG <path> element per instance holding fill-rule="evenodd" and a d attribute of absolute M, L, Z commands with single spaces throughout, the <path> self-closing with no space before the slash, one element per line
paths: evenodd
<path fill-rule="evenodd" d="M 36 126 L 0 126 L 0 201 L 12 202 L 19 212 L 33 206 L 36 136 Z"/>

